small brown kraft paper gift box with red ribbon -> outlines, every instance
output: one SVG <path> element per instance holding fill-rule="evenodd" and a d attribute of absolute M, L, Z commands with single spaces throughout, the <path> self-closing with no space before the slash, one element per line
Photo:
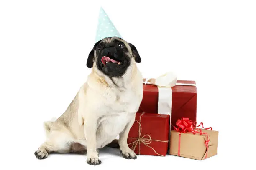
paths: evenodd
<path fill-rule="evenodd" d="M 211 128 L 200 129 L 194 126 L 190 132 L 181 129 L 172 130 L 169 154 L 196 160 L 217 155 L 218 131 L 209 129 Z"/>

